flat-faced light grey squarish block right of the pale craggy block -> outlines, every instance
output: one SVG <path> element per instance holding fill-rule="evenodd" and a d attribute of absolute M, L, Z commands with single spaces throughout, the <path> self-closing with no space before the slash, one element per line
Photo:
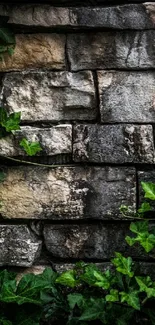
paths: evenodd
<path fill-rule="evenodd" d="M 154 123 L 155 73 L 99 71 L 101 121 Z"/>

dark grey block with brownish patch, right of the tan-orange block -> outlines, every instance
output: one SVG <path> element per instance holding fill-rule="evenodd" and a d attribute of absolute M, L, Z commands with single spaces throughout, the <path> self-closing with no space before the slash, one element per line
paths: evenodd
<path fill-rule="evenodd" d="M 154 30 L 70 34 L 71 69 L 155 68 L 154 42 Z"/>

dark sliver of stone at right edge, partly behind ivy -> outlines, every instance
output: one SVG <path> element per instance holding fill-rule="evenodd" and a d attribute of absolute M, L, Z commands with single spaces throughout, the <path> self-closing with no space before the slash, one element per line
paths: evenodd
<path fill-rule="evenodd" d="M 141 205 L 141 203 L 143 203 L 143 202 L 145 202 L 147 200 L 147 202 L 150 203 L 150 205 L 152 207 L 152 211 L 153 211 L 153 215 L 150 212 L 149 212 L 149 215 L 154 218 L 155 202 L 152 201 L 152 200 L 149 200 L 149 199 L 144 199 L 144 191 L 142 189 L 141 182 L 150 182 L 150 183 L 155 184 L 155 170 L 153 168 L 149 168 L 149 169 L 146 169 L 146 170 L 139 170 L 138 171 L 139 205 Z"/>

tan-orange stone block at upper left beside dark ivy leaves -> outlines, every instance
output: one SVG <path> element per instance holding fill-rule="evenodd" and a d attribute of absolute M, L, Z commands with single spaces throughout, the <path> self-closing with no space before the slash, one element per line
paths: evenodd
<path fill-rule="evenodd" d="M 58 70 L 65 68 L 64 35 L 16 35 L 14 54 L 5 55 L 4 60 L 0 61 L 0 71 L 38 68 Z"/>

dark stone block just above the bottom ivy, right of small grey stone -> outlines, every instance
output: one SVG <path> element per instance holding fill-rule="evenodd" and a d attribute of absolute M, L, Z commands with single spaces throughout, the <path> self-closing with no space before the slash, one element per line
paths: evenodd
<path fill-rule="evenodd" d="M 124 239 L 128 228 L 127 223 L 45 225 L 44 240 L 48 251 L 57 258 L 110 260 L 117 251 L 138 259 L 148 258 L 142 248 L 128 246 Z"/>

